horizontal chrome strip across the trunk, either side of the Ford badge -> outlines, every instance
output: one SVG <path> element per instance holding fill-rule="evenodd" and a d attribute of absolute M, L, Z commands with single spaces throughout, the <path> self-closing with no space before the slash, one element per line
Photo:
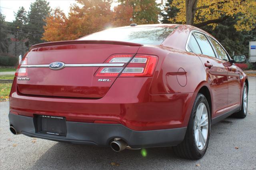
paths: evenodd
<path fill-rule="evenodd" d="M 50 64 L 20 65 L 20 67 L 49 67 Z M 65 64 L 64 67 L 122 67 L 124 63 Z"/>

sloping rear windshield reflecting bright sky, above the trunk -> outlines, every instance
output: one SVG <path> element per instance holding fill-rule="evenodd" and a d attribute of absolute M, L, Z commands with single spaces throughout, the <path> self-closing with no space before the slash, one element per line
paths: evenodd
<path fill-rule="evenodd" d="M 90 34 L 79 40 L 108 40 L 160 45 L 173 30 L 174 28 L 168 27 L 113 28 Z"/>

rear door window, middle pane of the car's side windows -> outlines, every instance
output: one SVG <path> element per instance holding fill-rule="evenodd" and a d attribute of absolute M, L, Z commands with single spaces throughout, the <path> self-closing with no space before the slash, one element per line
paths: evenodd
<path fill-rule="evenodd" d="M 210 45 L 210 42 L 208 42 L 206 36 L 199 32 L 193 32 L 193 35 L 195 36 L 196 41 L 198 42 L 200 49 L 202 50 L 202 53 L 204 55 L 215 57 L 212 46 Z"/>

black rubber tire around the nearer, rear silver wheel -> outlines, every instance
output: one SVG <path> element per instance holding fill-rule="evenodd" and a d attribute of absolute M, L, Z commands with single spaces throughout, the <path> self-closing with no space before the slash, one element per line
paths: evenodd
<path fill-rule="evenodd" d="M 206 140 L 206 144 L 202 150 L 199 150 L 196 146 L 195 134 L 194 134 L 194 126 L 195 126 L 195 117 L 196 117 L 196 110 L 200 103 L 204 103 L 208 112 L 208 136 Z M 202 158 L 207 150 L 209 137 L 210 137 L 210 109 L 207 102 L 206 97 L 201 93 L 198 93 L 196 100 L 194 102 L 192 112 L 190 115 L 190 120 L 188 122 L 188 127 L 186 130 L 186 135 L 184 140 L 178 144 L 177 146 L 173 146 L 174 154 L 180 158 L 198 160 Z"/>

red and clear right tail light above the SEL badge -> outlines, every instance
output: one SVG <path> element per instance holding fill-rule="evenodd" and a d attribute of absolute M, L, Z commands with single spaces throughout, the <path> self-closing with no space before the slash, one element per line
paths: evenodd
<path fill-rule="evenodd" d="M 124 67 L 100 67 L 96 77 L 151 77 L 158 57 L 137 54 L 112 55 L 105 63 L 125 63 Z M 129 63 L 128 63 L 129 62 Z"/>

